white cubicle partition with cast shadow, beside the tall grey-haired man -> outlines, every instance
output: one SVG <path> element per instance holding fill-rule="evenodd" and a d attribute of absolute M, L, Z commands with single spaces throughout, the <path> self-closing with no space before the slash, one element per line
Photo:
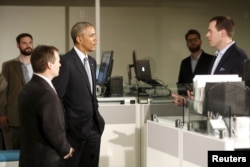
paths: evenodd
<path fill-rule="evenodd" d="M 106 122 L 100 166 L 140 166 L 140 105 L 134 97 L 98 98 Z"/>

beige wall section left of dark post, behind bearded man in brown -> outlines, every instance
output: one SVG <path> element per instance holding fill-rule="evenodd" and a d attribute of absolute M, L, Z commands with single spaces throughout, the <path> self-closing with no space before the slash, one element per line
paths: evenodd
<path fill-rule="evenodd" d="M 64 7 L 0 6 L 0 20 L 1 65 L 18 56 L 16 36 L 23 32 L 32 34 L 34 46 L 55 45 L 65 52 Z"/>

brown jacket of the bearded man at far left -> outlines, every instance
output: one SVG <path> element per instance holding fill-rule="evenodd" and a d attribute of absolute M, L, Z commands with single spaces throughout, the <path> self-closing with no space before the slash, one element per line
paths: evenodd
<path fill-rule="evenodd" d="M 8 85 L 0 97 L 0 116 L 7 115 L 9 126 L 19 127 L 17 97 L 25 85 L 19 57 L 3 63 L 2 74 Z"/>

